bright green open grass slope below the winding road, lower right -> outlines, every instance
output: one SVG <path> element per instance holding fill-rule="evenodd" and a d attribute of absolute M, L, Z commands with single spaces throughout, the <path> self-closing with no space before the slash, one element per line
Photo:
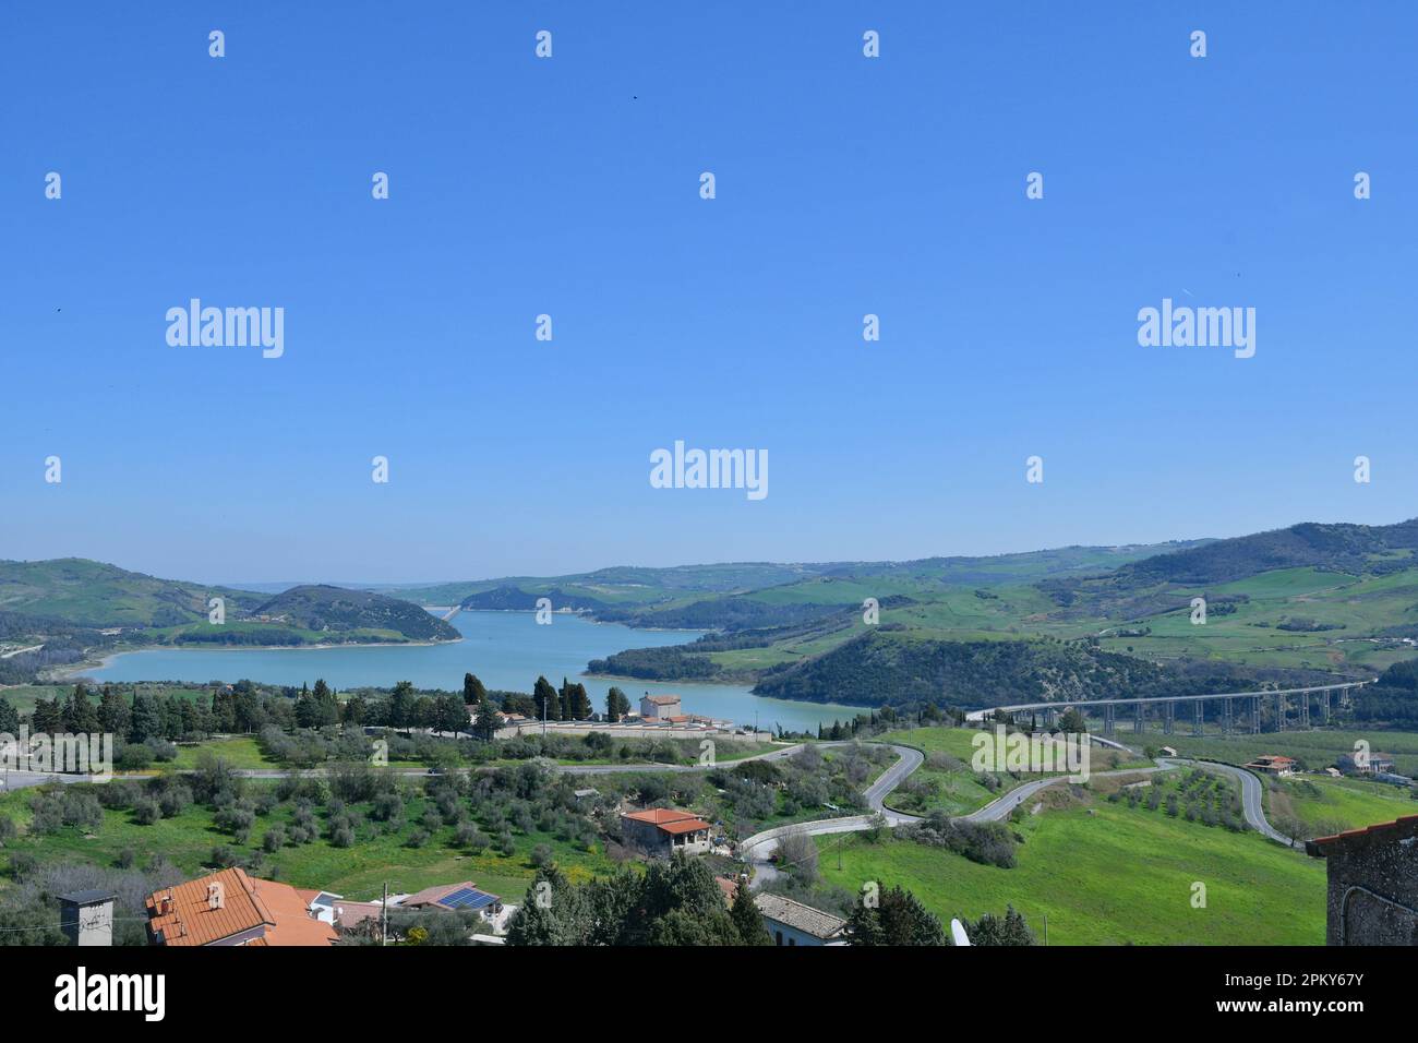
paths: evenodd
<path fill-rule="evenodd" d="M 858 893 L 900 884 L 943 922 L 1012 904 L 1054 945 L 1323 945 L 1324 866 L 1256 833 L 1095 802 L 1045 810 L 1012 829 L 1014 868 L 905 840 L 821 837 L 821 871 Z M 1207 907 L 1193 908 L 1193 884 Z"/>

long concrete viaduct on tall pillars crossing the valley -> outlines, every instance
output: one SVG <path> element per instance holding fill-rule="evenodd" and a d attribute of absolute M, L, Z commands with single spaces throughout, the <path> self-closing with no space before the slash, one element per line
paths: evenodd
<path fill-rule="evenodd" d="M 1273 700 L 1276 729 L 1285 731 L 1289 727 L 1309 728 L 1310 710 L 1323 714 L 1323 724 L 1330 722 L 1330 700 L 1339 692 L 1340 705 L 1349 701 L 1350 690 L 1360 688 L 1373 681 L 1346 681 L 1343 684 L 1322 684 L 1313 688 L 1276 688 L 1271 691 L 1231 691 L 1211 695 L 1163 695 L 1154 698 L 1136 700 L 1068 700 L 1059 702 L 1021 702 L 1015 707 L 993 707 L 977 710 L 968 714 L 967 719 L 984 721 L 994 714 L 1042 712 L 1044 724 L 1052 725 L 1058 714 L 1065 710 L 1078 708 L 1085 714 L 1103 715 L 1103 735 L 1112 735 L 1117 721 L 1119 707 L 1133 707 L 1133 731 L 1143 732 L 1147 728 L 1147 708 L 1157 707 L 1161 712 L 1163 732 L 1171 735 L 1177 722 L 1177 705 L 1191 704 L 1191 734 L 1202 735 L 1205 721 L 1205 705 L 1208 702 L 1221 704 L 1221 734 L 1235 735 L 1242 729 L 1238 721 L 1246 719 L 1245 732 L 1252 735 L 1261 731 L 1261 707 L 1265 700 Z"/>

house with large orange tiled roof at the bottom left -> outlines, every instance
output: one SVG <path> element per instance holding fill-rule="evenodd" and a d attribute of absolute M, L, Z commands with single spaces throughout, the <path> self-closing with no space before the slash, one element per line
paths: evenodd
<path fill-rule="evenodd" d="M 309 893 L 228 868 L 153 891 L 153 945 L 333 945 L 335 928 L 311 915 Z"/>

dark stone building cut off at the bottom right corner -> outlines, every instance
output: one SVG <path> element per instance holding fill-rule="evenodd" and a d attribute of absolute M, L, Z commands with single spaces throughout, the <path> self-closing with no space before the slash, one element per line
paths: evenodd
<path fill-rule="evenodd" d="M 1329 945 L 1418 945 L 1418 815 L 1305 844 L 1324 859 Z"/>

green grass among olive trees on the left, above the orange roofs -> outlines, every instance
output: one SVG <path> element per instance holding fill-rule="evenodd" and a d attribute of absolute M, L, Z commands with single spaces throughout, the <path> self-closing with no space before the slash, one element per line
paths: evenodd
<path fill-rule="evenodd" d="M 258 792 L 259 785 L 252 783 L 250 792 Z M 369 812 L 369 805 L 350 807 Z M 406 841 L 423 809 L 423 798 L 411 798 L 406 802 L 408 824 L 396 833 L 379 833 L 366 823 L 352 847 L 335 847 L 323 837 L 309 844 L 286 846 L 277 854 L 267 856 L 257 873 L 296 887 L 326 888 L 352 900 L 374 897 L 386 881 L 391 891 L 415 891 L 432 884 L 472 880 L 508 901 L 519 901 L 536 873 L 529 860 L 536 844 L 550 846 L 557 863 L 573 880 L 614 868 L 600 846 L 587 851 L 540 832 L 516 834 L 516 851 L 510 856 L 498 854 L 491 847 L 472 856 L 452 846 L 452 826 L 444 826 L 423 847 L 408 847 Z M 125 850 L 133 851 L 139 861 L 157 853 L 189 877 L 211 871 L 213 847 L 225 844 L 240 853 L 250 853 L 259 847 L 261 837 L 272 824 L 288 823 L 291 819 L 288 807 L 278 807 L 257 820 L 250 843 L 241 847 L 213 824 L 208 809 L 197 805 L 150 826 L 139 826 L 126 810 L 105 809 L 104 824 L 94 834 L 65 827 L 43 837 L 31 837 L 24 832 L 24 824 L 30 820 L 26 792 L 0 798 L 0 815 L 7 815 L 21 826 L 20 836 L 4 846 L 10 856 L 28 853 L 41 861 L 111 867 L 119 863 Z M 323 812 L 319 817 L 323 820 Z"/>

